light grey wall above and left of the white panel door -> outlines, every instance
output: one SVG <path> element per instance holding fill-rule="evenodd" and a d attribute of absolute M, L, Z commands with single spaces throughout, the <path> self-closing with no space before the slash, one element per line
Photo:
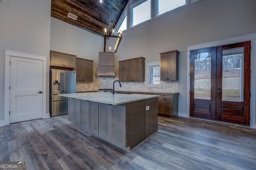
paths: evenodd
<path fill-rule="evenodd" d="M 0 1 L 0 121 L 4 120 L 4 49 L 49 56 L 50 14 L 51 0 Z"/>

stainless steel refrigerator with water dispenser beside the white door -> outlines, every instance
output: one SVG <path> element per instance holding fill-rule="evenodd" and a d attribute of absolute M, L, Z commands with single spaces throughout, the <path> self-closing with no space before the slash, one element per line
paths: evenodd
<path fill-rule="evenodd" d="M 50 115 L 68 113 L 68 98 L 58 94 L 76 93 L 76 71 L 50 70 Z"/>

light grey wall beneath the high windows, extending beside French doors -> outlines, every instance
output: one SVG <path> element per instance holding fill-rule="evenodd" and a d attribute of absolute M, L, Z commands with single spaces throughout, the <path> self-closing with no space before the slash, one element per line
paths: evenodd
<path fill-rule="evenodd" d="M 202 0 L 124 31 L 117 55 L 120 60 L 142 56 L 150 62 L 159 61 L 161 52 L 180 51 L 179 115 L 189 116 L 186 47 L 255 33 L 255 6 L 255 0 Z"/>

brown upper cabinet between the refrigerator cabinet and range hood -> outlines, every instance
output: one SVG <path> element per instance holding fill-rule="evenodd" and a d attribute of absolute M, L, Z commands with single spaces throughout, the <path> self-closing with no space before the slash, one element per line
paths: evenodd
<path fill-rule="evenodd" d="M 93 61 L 76 58 L 76 81 L 93 81 Z"/>

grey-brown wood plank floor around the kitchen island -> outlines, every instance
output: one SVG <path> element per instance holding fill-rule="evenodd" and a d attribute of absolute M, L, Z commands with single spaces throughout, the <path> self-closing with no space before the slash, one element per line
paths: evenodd
<path fill-rule="evenodd" d="M 0 161 L 36 169 L 255 170 L 256 129 L 192 118 L 158 118 L 158 132 L 127 152 L 67 115 L 0 127 Z"/>

